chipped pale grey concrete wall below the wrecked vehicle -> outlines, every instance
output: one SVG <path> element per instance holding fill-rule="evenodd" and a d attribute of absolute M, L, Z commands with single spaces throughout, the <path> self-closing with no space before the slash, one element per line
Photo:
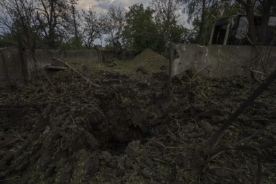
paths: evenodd
<path fill-rule="evenodd" d="M 258 50 L 266 53 L 263 59 L 265 63 L 268 61 L 268 72 L 275 70 L 276 47 L 258 47 Z M 267 59 L 268 53 L 270 54 Z M 261 60 L 256 60 L 256 57 L 257 52 L 253 46 L 177 44 L 175 45 L 176 59 L 172 61 L 171 76 L 184 72 L 186 69 L 200 70 L 206 66 L 208 67 L 201 70 L 200 74 L 209 76 L 247 75 L 250 66 L 255 70 L 262 71 Z"/>

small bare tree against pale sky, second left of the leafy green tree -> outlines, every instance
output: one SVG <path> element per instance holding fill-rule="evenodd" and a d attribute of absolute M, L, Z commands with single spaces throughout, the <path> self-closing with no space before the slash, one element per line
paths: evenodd
<path fill-rule="evenodd" d="M 92 8 L 89 8 L 87 12 L 84 10 L 82 11 L 81 20 L 81 32 L 79 37 L 81 37 L 86 48 L 89 49 L 95 39 L 99 39 L 105 32 L 105 19 L 101 14 L 97 14 L 93 12 Z"/>

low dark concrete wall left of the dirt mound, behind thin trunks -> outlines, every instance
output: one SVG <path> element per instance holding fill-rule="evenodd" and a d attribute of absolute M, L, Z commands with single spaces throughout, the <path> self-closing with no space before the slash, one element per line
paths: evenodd
<path fill-rule="evenodd" d="M 6 67 L 3 63 L 2 54 L 0 52 L 0 88 L 4 88 L 8 85 L 7 72 L 10 82 L 15 85 L 22 83 L 22 75 L 20 69 L 20 57 L 17 48 L 0 48 L 3 53 L 3 58 L 6 63 Z M 112 50 L 101 50 L 103 62 L 111 60 L 114 55 Z M 57 63 L 53 61 L 52 57 L 63 59 L 64 61 L 75 61 L 76 63 L 88 63 L 97 62 L 98 54 L 97 50 L 65 50 L 59 52 L 59 50 L 36 50 L 35 57 L 39 68 L 44 68 L 46 65 Z M 32 54 L 27 52 L 28 68 L 34 69 L 34 62 L 32 61 Z M 59 63 L 60 64 L 60 63 Z"/>

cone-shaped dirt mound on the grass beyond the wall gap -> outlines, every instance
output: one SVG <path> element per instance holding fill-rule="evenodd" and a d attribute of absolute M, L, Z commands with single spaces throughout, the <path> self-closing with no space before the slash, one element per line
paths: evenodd
<path fill-rule="evenodd" d="M 164 65 L 164 69 L 162 68 L 162 70 L 168 70 L 169 65 L 168 59 L 150 49 L 146 49 L 138 54 L 131 62 L 133 65 L 141 65 L 146 70 L 153 70 L 156 72 L 161 71 L 160 67 L 162 65 Z"/>

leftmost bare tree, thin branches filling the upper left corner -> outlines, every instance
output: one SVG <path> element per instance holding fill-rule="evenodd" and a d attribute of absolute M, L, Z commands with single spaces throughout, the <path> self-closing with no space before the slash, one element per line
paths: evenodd
<path fill-rule="evenodd" d="M 21 34 L 22 44 L 34 52 L 41 36 L 41 26 L 35 12 L 37 4 L 31 0 L 0 1 L 0 28 L 6 38 L 16 44 L 17 34 Z"/>

